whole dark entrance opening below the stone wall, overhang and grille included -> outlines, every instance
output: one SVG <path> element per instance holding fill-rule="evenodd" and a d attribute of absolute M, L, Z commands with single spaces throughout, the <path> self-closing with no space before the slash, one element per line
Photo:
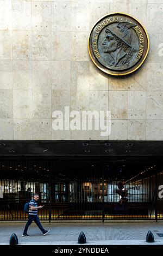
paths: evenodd
<path fill-rule="evenodd" d="M 47 221 L 158 221 L 163 218 L 162 151 L 160 142 L 3 141 L 0 221 L 27 219 L 23 206 L 33 193 L 39 193 L 45 205 L 39 217 Z M 121 181 L 124 204 L 117 193 Z"/>

